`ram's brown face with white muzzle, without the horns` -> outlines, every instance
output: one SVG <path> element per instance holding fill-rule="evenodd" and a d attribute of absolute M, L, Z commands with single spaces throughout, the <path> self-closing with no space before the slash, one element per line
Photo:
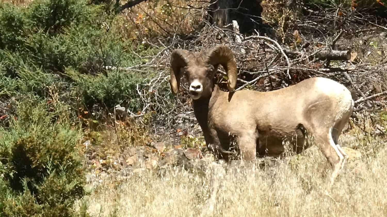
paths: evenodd
<path fill-rule="evenodd" d="M 215 68 L 211 64 L 193 64 L 182 68 L 187 76 L 189 84 L 189 94 L 192 99 L 209 97 L 212 92 L 212 81 Z"/>

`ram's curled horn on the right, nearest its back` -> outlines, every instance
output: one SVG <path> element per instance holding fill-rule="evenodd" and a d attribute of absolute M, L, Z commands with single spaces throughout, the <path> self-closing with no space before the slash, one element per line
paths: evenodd
<path fill-rule="evenodd" d="M 221 64 L 227 72 L 227 88 L 233 91 L 236 86 L 236 61 L 233 51 L 225 45 L 216 45 L 207 51 L 207 63 L 212 64 L 217 68 L 217 64 Z"/>

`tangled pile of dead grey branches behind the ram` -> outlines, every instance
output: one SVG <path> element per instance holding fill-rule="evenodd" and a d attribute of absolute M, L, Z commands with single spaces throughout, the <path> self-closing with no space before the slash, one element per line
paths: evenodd
<path fill-rule="evenodd" d="M 161 51 L 147 64 L 127 70 L 157 71 L 158 76 L 149 83 L 148 91 L 152 91 L 155 85 L 168 86 L 169 60 L 174 49 L 201 51 L 215 44 L 225 44 L 233 50 L 238 64 L 236 90 L 271 91 L 322 76 L 339 81 L 351 90 L 356 112 L 385 108 L 387 28 L 382 24 L 387 24 L 387 20 L 365 17 L 356 10 L 327 10 L 324 17 L 319 12 L 308 11 L 309 15 L 293 20 L 283 40 L 260 35 L 259 31 L 250 36 L 242 35 L 235 21 L 223 28 L 207 23 L 189 35 L 154 39 L 149 43 Z M 222 68 L 218 74 L 217 80 L 226 90 Z M 181 127 L 183 123 L 188 128 L 196 124 L 186 94 L 187 84 L 183 82 L 181 88 L 182 94 L 173 102 L 158 93 L 152 95 L 159 97 L 156 102 L 161 109 L 154 126 L 156 132 L 172 132 L 173 125 Z M 145 95 L 143 100 L 155 103 Z M 164 112 L 166 107 L 172 109 Z M 142 112 L 147 112 L 147 108 Z"/>

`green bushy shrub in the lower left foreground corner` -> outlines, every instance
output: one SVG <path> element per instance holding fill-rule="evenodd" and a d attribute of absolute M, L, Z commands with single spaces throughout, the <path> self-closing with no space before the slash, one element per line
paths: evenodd
<path fill-rule="evenodd" d="M 74 216 L 84 195 L 82 133 L 68 121 L 68 107 L 27 95 L 0 135 L 2 216 Z"/>

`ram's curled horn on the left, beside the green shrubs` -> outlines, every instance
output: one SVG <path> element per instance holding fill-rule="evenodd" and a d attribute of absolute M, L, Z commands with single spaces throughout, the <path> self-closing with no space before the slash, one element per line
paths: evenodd
<path fill-rule="evenodd" d="M 180 79 L 182 78 L 180 69 L 182 67 L 187 66 L 188 53 L 189 51 L 183 50 L 183 49 L 176 49 L 171 53 L 170 86 L 171 86 L 171 91 L 174 95 L 176 95 L 177 92 L 179 91 Z"/>

